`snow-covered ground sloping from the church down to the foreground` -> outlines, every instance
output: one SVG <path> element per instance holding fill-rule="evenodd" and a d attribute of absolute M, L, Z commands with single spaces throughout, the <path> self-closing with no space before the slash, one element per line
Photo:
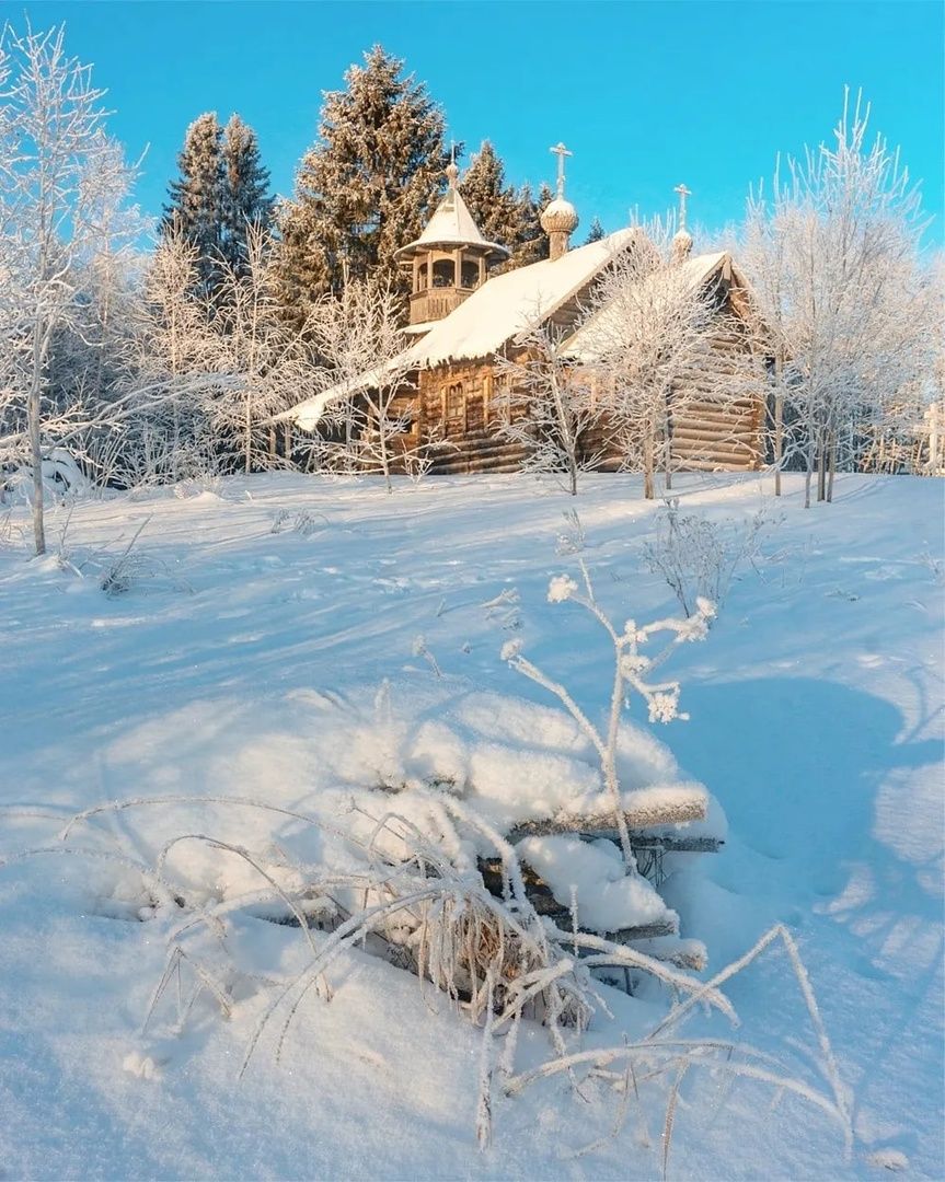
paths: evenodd
<path fill-rule="evenodd" d="M 792 479 L 779 502 L 766 492 L 755 479 L 681 481 L 684 512 L 744 520 L 764 505 L 768 525 L 708 638 L 674 655 L 690 720 L 654 728 L 730 826 L 698 889 L 677 900 L 671 882 L 667 901 L 705 941 L 710 972 L 777 921 L 794 931 L 856 1143 L 846 1156 L 823 1112 L 791 1096 L 772 1106 L 757 1082 L 688 1077 L 668 1174 L 941 1177 L 943 486 L 846 476 L 836 504 L 808 512 Z M 520 788 L 567 743 L 554 740 L 554 700 L 500 660 L 510 636 L 588 710 L 609 700 L 600 625 L 546 597 L 551 576 L 574 573 L 556 552 L 574 507 L 524 478 L 391 496 L 371 482 L 253 478 L 57 508 L 60 554 L 39 560 L 19 539 L 25 513 L 0 512 L 0 853 L 56 846 L 69 817 L 109 800 L 239 795 L 341 817 L 349 788 L 410 760 L 435 774 L 477 759 L 485 775 L 490 759 L 517 758 Z M 613 617 L 675 615 L 641 560 L 659 509 L 639 482 L 589 479 L 576 507 Z M 130 586 L 106 596 L 104 556 L 142 524 L 138 557 L 118 572 Z M 511 589 L 517 604 L 483 606 Z M 637 700 L 634 721 L 645 713 Z M 451 746 L 460 732 L 465 746 Z M 661 748 L 653 758 L 673 771 Z M 153 862 L 182 833 L 313 856 L 291 819 L 213 803 L 105 813 L 65 844 Z M 246 864 L 206 843 L 175 856 L 206 898 L 252 889 Z M 369 952 L 336 966 L 329 1004 L 305 1002 L 280 1061 L 260 1046 L 240 1079 L 266 980 L 305 956 L 298 929 L 264 920 L 227 936 L 245 972 L 228 1021 L 205 998 L 181 1035 L 163 1011 L 142 1035 L 169 921 L 136 922 L 135 882 L 60 852 L 0 866 L 0 1177 L 659 1176 L 659 1113 L 648 1135 L 632 1113 L 574 1156 L 606 1136 L 614 1109 L 564 1077 L 498 1098 L 480 1152 L 480 1033 Z M 727 992 L 737 1038 L 817 1080 L 783 954 Z M 590 1034 L 608 1044 L 664 1005 L 610 1000 L 609 1028 Z M 523 1059 L 542 1050 L 541 1030 L 525 1031 Z"/>

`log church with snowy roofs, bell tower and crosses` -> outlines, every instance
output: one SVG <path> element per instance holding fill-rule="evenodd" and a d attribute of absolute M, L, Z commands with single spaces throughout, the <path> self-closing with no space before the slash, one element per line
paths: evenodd
<path fill-rule="evenodd" d="M 523 331 L 554 325 L 567 344 L 574 339 L 575 365 L 591 365 L 582 356 L 588 336 L 583 309 L 595 284 L 621 253 L 633 249 L 642 232 L 617 230 L 575 249 L 569 240 L 578 216 L 564 196 L 563 144 L 558 154 L 557 196 L 541 215 L 549 239 L 549 258 L 530 266 L 491 275 L 509 258 L 498 242 L 488 242 L 475 225 L 458 188 L 459 170 L 447 168 L 447 191 L 420 238 L 404 243 L 397 260 L 409 273 L 409 324 L 403 329 L 404 351 L 397 358 L 404 375 L 399 413 L 409 422 L 401 439 L 403 449 L 415 450 L 425 440 L 439 441 L 432 449 L 433 473 L 513 472 L 524 457 L 520 443 L 501 434 L 507 407 L 497 358 L 516 348 Z M 737 359 L 749 351 L 744 331 L 747 288 L 727 253 L 692 256 L 692 239 L 685 229 L 685 197 L 680 186 L 680 230 L 673 241 L 674 262 L 704 287 L 713 306 L 712 352 L 714 364 Z M 667 416 L 667 456 L 672 469 L 747 470 L 763 462 L 762 428 L 764 383 L 757 392 L 744 383 L 720 396 L 717 374 L 693 370 L 679 391 L 678 415 Z M 365 372 L 363 389 L 377 382 Z M 292 408 L 280 418 L 303 431 L 317 431 L 334 398 L 350 397 L 351 384 L 324 391 Z M 602 456 L 598 467 L 615 470 L 623 456 L 604 441 L 593 441 Z M 590 444 L 589 444 L 590 446 Z"/>

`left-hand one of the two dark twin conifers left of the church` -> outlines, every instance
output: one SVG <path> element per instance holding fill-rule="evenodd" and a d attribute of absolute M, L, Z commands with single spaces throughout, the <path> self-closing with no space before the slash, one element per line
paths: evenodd
<path fill-rule="evenodd" d="M 164 236 L 175 229 L 199 253 L 201 296 L 213 294 L 220 274 L 224 242 L 224 194 L 226 173 L 222 129 L 214 111 L 201 115 L 187 129 L 177 157 L 180 178 L 170 183 L 170 203 L 164 207 Z"/>

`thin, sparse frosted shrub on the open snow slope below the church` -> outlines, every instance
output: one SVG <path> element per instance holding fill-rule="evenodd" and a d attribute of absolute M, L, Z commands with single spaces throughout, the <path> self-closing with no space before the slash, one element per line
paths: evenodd
<path fill-rule="evenodd" d="M 764 508 L 746 521 L 680 513 L 674 496 L 666 501 L 643 558 L 654 574 L 666 579 L 688 617 L 698 611 L 700 598 L 723 605 L 738 567 L 756 561 L 768 524 Z"/>

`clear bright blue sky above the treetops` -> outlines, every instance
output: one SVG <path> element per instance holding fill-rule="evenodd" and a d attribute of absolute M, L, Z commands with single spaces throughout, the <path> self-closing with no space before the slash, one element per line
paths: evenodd
<path fill-rule="evenodd" d="M 829 136 L 844 83 L 902 145 L 943 226 L 943 4 L 895 2 L 0 2 L 34 26 L 65 21 L 95 64 L 131 155 L 138 199 L 160 212 L 187 124 L 238 111 L 258 131 L 277 191 L 316 135 L 323 90 L 380 41 L 442 105 L 449 135 L 488 137 L 514 182 L 551 180 L 564 139 L 582 229 L 664 210 L 693 190 L 692 220 L 738 219 L 776 151 Z"/>

